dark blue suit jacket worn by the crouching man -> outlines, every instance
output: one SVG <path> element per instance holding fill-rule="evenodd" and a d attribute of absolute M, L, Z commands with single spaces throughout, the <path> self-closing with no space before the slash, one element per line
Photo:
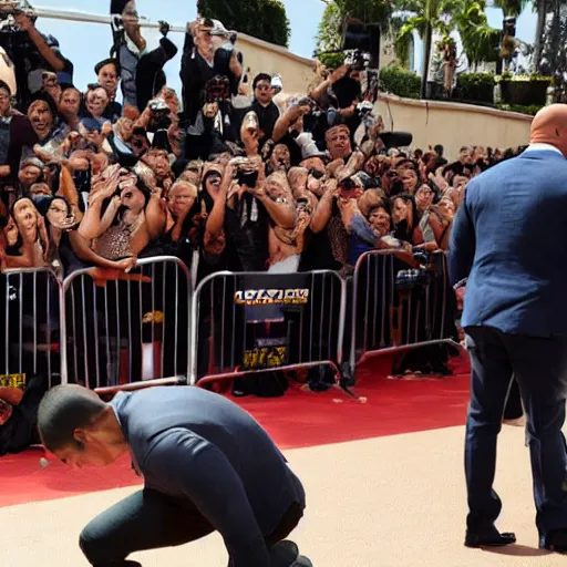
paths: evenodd
<path fill-rule="evenodd" d="M 200 388 L 151 388 L 111 404 L 145 486 L 195 506 L 235 567 L 268 566 L 264 537 L 292 503 L 305 507 L 305 492 L 258 422 Z"/>

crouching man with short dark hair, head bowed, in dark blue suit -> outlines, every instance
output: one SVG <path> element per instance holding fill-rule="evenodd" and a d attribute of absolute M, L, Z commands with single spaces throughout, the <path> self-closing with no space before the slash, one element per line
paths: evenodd
<path fill-rule="evenodd" d="M 45 447 L 63 463 L 111 465 L 127 454 L 144 488 L 94 518 L 80 545 L 95 567 L 138 564 L 134 551 L 215 530 L 229 567 L 310 567 L 285 538 L 305 508 L 298 477 L 264 429 L 224 396 L 192 386 L 120 393 L 106 404 L 60 385 L 38 415 Z"/>

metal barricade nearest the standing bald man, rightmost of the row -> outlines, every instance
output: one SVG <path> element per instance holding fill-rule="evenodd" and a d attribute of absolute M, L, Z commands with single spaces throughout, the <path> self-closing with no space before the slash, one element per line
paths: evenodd
<path fill-rule="evenodd" d="M 352 371 L 370 352 L 458 346 L 456 300 L 446 256 L 435 252 L 430 260 L 423 270 L 415 269 L 399 251 L 373 250 L 359 258 L 353 278 Z"/>

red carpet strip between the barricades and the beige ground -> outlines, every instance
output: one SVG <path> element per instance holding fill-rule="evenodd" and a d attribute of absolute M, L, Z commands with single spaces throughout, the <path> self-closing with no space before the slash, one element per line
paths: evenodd
<path fill-rule="evenodd" d="M 466 361 L 455 375 L 423 381 L 386 380 L 389 361 L 377 358 L 358 370 L 358 400 L 341 391 L 305 392 L 292 386 L 285 396 L 245 398 L 238 403 L 272 435 L 281 449 L 339 443 L 461 425 L 468 400 Z M 126 460 L 107 468 L 72 471 L 55 462 L 41 468 L 41 450 L 0 460 L 0 506 L 118 488 L 140 478 Z"/>

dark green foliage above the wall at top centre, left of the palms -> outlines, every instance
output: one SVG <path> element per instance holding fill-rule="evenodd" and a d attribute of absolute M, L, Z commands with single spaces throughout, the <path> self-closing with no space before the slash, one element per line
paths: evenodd
<path fill-rule="evenodd" d="M 291 29 L 280 0 L 198 0 L 197 9 L 202 17 L 220 20 L 229 30 L 285 48 L 289 44 Z"/>

